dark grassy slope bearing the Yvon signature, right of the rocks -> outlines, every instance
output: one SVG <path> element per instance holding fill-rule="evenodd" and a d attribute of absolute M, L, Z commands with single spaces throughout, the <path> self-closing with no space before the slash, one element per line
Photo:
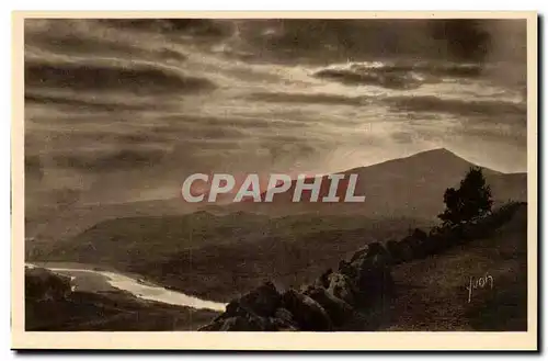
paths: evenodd
<path fill-rule="evenodd" d="M 526 330 L 526 205 L 496 235 L 395 269 L 398 291 L 383 311 L 380 330 Z M 473 290 L 470 277 L 489 273 L 494 287 Z M 363 326 L 363 325 L 362 325 Z"/>

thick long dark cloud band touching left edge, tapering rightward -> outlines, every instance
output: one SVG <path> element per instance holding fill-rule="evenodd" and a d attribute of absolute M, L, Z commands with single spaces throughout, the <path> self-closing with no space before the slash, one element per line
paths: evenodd
<path fill-rule="evenodd" d="M 160 66 L 134 65 L 126 68 L 33 61 L 25 64 L 25 87 L 128 91 L 137 94 L 193 93 L 215 88 L 207 79 L 183 76 Z"/>

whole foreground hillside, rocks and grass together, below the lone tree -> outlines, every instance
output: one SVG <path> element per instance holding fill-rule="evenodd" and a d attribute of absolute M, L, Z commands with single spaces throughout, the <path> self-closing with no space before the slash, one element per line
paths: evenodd
<path fill-rule="evenodd" d="M 201 329 L 526 330 L 526 211 L 510 203 L 465 224 L 366 245 L 298 289 L 263 283 Z"/>

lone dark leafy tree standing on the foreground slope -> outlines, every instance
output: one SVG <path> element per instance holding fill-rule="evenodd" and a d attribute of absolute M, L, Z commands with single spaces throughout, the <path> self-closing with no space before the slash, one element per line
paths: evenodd
<path fill-rule="evenodd" d="M 459 189 L 445 190 L 444 203 L 445 211 L 438 215 L 444 224 L 459 224 L 491 211 L 491 188 L 486 184 L 481 168 L 470 168 Z"/>

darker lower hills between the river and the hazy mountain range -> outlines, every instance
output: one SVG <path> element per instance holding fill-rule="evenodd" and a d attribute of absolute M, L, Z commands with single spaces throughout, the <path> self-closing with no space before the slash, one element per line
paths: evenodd
<path fill-rule="evenodd" d="M 77 261 L 145 275 L 207 300 L 230 301 L 265 279 L 299 285 L 372 240 L 427 222 L 252 214 L 122 218 L 69 241 L 41 245 L 34 261 Z M 192 235 L 192 237 L 191 237 Z"/>

